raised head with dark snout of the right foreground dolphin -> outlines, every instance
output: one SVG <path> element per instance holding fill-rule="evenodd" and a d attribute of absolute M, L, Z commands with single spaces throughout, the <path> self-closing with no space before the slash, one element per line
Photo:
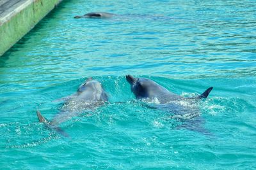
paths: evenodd
<path fill-rule="evenodd" d="M 134 78 L 131 75 L 126 76 L 126 80 L 131 85 L 131 90 L 137 99 L 147 97 L 157 97 L 159 85 L 148 78 Z"/>

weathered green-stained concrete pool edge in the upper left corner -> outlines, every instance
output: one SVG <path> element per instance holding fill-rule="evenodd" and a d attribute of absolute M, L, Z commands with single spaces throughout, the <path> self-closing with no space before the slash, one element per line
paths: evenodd
<path fill-rule="evenodd" d="M 0 56 L 62 0 L 0 0 Z"/>

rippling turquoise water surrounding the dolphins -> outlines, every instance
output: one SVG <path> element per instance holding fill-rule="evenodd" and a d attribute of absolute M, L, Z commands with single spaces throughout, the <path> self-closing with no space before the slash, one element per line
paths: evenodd
<path fill-rule="evenodd" d="M 82 1 L 60 4 L 0 58 L 0 168 L 255 169 L 255 1 Z M 108 11 L 111 19 L 74 19 Z M 125 74 L 200 103 L 211 135 L 179 128 L 136 101 Z M 109 104 L 61 124 L 54 117 L 88 76 Z"/>

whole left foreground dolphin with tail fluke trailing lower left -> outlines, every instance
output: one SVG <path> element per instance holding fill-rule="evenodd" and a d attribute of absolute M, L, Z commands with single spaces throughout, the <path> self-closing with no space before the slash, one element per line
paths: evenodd
<path fill-rule="evenodd" d="M 64 97 L 62 100 L 65 100 L 65 103 L 61 107 L 60 113 L 58 113 L 51 122 L 44 118 L 40 111 L 36 111 L 36 113 L 39 122 L 43 122 L 47 127 L 67 136 L 58 125 L 72 117 L 80 115 L 83 111 L 90 111 L 97 108 L 97 106 L 101 106 L 108 101 L 108 95 L 99 81 L 87 78 L 86 81 L 79 86 L 75 94 Z"/>

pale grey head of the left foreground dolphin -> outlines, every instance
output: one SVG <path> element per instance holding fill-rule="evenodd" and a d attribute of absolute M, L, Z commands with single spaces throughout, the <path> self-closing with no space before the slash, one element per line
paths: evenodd
<path fill-rule="evenodd" d="M 87 78 L 77 89 L 77 92 L 84 92 L 85 90 L 91 90 L 91 91 L 95 91 L 97 90 L 98 92 L 102 92 L 103 91 L 103 87 L 102 84 L 97 81 L 97 80 L 93 80 L 92 77 Z"/>

